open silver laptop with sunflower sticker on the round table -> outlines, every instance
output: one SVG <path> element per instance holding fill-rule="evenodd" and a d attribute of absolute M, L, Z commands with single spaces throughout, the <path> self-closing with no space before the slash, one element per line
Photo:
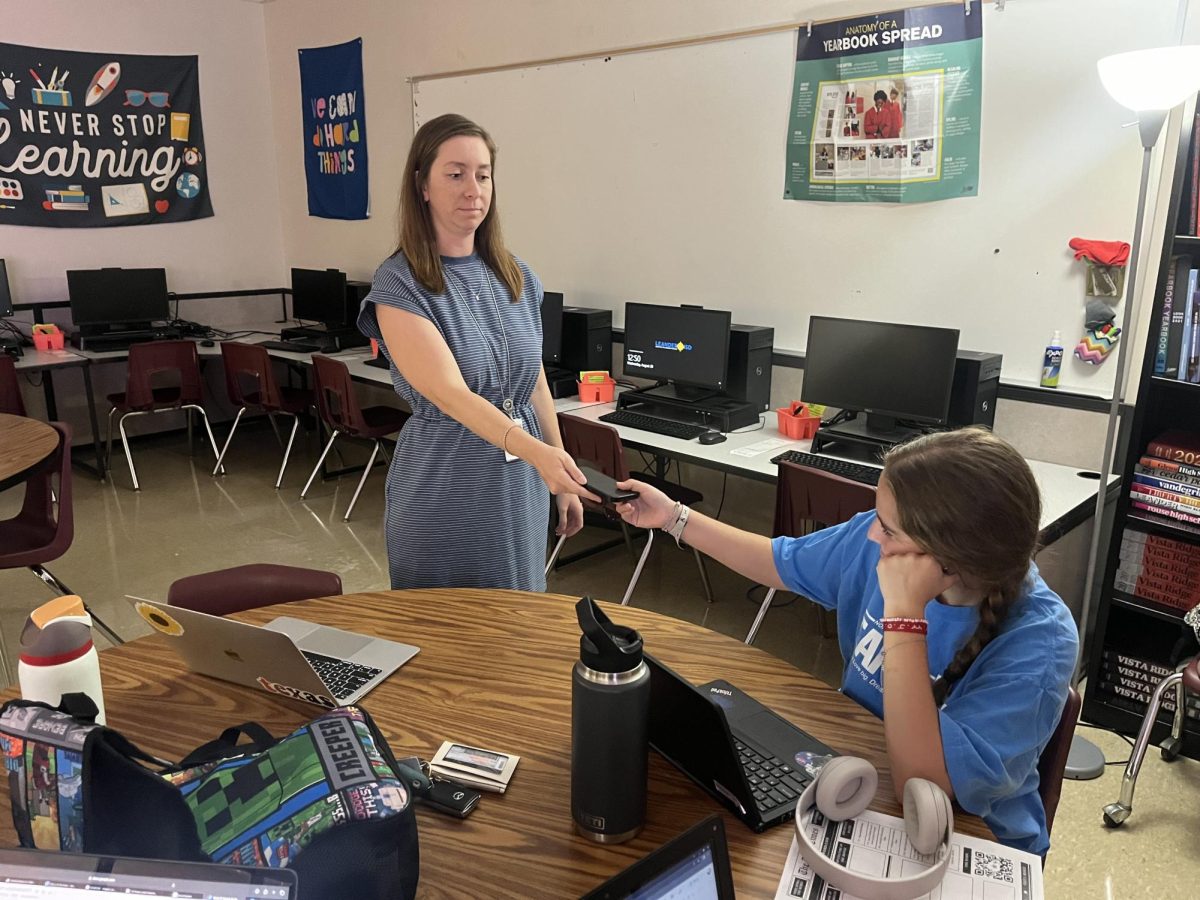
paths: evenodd
<path fill-rule="evenodd" d="M 420 648 L 281 616 L 251 625 L 125 598 L 193 672 L 322 707 L 355 703 Z"/>

